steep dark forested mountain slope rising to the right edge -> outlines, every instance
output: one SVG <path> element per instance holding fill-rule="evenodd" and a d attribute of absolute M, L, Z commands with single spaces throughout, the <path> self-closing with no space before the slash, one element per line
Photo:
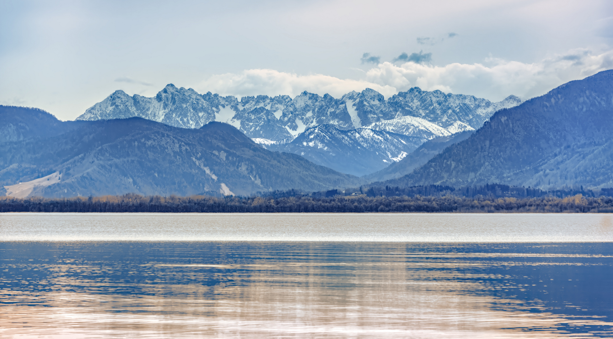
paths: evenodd
<path fill-rule="evenodd" d="M 389 185 L 613 186 L 613 70 L 496 112 L 471 137 Z"/>

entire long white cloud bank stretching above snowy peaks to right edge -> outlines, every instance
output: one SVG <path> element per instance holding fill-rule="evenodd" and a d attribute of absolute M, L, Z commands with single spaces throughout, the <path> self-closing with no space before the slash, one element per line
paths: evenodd
<path fill-rule="evenodd" d="M 421 52 L 411 56 L 426 56 Z M 359 79 L 341 79 L 323 74 L 299 75 L 273 69 L 249 69 L 240 73 L 213 75 L 196 90 L 222 95 L 297 96 L 303 91 L 340 97 L 349 91 L 372 88 L 385 97 L 418 86 L 422 90 L 470 94 L 492 101 L 501 101 L 509 94 L 520 97 L 539 96 L 571 80 L 613 68 L 613 51 L 593 53 L 587 49 L 570 50 L 536 63 L 487 58 L 484 63 L 452 63 L 433 66 L 424 59 L 397 58 L 396 63 L 384 61 L 365 71 Z M 427 55 L 429 61 L 430 55 Z M 398 60 L 402 64 L 398 64 Z"/>

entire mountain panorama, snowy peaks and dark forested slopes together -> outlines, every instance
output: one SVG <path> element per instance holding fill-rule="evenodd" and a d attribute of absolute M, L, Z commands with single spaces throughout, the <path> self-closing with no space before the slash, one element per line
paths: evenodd
<path fill-rule="evenodd" d="M 305 92 L 240 102 L 172 85 L 156 98 L 122 93 L 76 121 L 0 106 L 0 194 L 228 196 L 368 183 L 613 186 L 613 70 L 519 105 L 513 97 L 488 104 L 418 88 L 387 100 L 372 90 L 341 99 Z M 450 103 L 455 109 L 441 109 Z M 299 129 L 291 124 L 295 116 L 304 118 L 294 118 Z"/>

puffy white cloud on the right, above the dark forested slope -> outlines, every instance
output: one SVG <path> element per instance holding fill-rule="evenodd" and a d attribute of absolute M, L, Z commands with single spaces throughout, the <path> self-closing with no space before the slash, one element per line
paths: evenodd
<path fill-rule="evenodd" d="M 365 80 L 399 91 L 419 86 L 427 91 L 472 94 L 499 101 L 509 94 L 539 96 L 563 83 L 611 68 L 613 51 L 594 55 L 577 49 L 531 64 L 494 58 L 485 59 L 485 64 L 446 66 L 413 62 L 397 66 L 386 62 L 368 70 Z"/>

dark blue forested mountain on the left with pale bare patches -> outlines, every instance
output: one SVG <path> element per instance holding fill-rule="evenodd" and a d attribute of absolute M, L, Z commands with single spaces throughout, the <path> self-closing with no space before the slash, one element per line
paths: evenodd
<path fill-rule="evenodd" d="M 0 142 L 0 186 L 17 197 L 244 196 L 361 183 L 296 154 L 265 150 L 214 121 L 199 129 L 142 118 L 62 122 L 41 110 L 0 106 L 0 123 L 22 131 Z"/>

